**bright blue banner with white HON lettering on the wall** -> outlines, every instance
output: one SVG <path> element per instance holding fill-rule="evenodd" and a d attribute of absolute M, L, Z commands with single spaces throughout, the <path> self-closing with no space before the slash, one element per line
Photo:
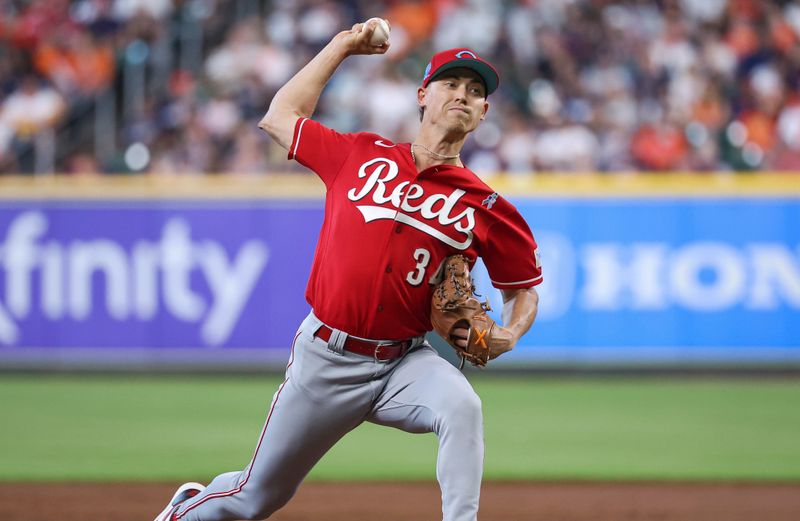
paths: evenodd
<path fill-rule="evenodd" d="M 544 283 L 509 359 L 800 360 L 797 199 L 515 202 Z M 491 299 L 501 309 L 499 292 Z"/>

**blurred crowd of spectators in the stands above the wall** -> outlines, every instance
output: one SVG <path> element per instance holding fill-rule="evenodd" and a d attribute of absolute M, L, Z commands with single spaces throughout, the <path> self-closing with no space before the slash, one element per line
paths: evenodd
<path fill-rule="evenodd" d="M 340 131 L 410 141 L 425 64 L 464 46 L 501 77 L 479 173 L 800 172 L 797 0 L 0 0 L 0 172 L 297 170 L 257 122 L 372 16 L 389 53 L 348 59 L 315 116 Z"/>

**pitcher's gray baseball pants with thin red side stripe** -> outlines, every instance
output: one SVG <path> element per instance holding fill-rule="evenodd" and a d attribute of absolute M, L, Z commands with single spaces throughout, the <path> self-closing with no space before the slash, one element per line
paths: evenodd
<path fill-rule="evenodd" d="M 266 519 L 322 456 L 363 421 L 439 438 L 436 477 L 444 521 L 475 521 L 483 473 L 481 402 L 467 379 L 420 337 L 380 362 L 342 349 L 346 335 L 314 336 L 310 314 L 295 337 L 250 464 L 221 474 L 178 509 L 179 521 Z M 390 449 L 389 449 L 390 450 Z"/>

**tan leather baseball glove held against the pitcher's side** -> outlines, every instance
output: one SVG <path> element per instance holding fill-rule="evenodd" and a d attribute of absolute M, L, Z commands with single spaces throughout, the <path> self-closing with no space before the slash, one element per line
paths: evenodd
<path fill-rule="evenodd" d="M 448 343 L 463 361 L 477 367 L 507 351 L 505 331 L 489 315 L 488 300 L 475 298 L 475 285 L 469 275 L 469 264 L 463 255 L 445 260 L 443 280 L 436 286 L 431 299 L 433 329 Z M 456 344 L 453 334 L 457 328 L 469 331 L 466 347 Z"/>

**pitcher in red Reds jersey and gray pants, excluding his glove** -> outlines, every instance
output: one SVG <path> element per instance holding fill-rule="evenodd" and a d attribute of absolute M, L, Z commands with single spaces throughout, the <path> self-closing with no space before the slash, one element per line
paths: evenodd
<path fill-rule="evenodd" d="M 347 56 L 386 52 L 388 43 L 369 43 L 374 29 L 370 22 L 337 34 L 280 89 L 259 124 L 327 188 L 306 292 L 312 312 L 294 338 L 250 463 L 205 488 L 182 485 L 156 521 L 267 518 L 364 421 L 436 433 L 443 519 L 477 519 L 481 402 L 424 339 L 431 296 L 448 256 L 482 257 L 505 302 L 498 334 L 508 342 L 494 356 L 508 351 L 537 312 L 537 246 L 517 210 L 461 161 L 499 82 L 469 49 L 431 59 L 417 90 L 413 143 L 341 134 L 310 119 Z M 465 343 L 469 331 L 456 331 Z"/>

